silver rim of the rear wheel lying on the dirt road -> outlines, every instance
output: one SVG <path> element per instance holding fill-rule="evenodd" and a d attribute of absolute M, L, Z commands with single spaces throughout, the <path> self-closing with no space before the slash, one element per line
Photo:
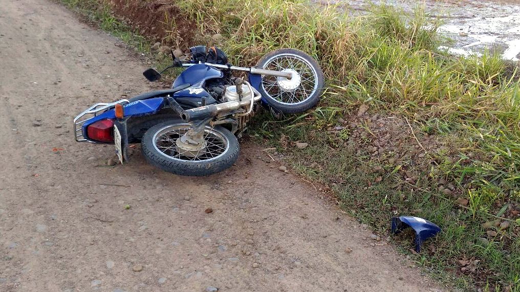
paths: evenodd
<path fill-rule="evenodd" d="M 177 139 L 190 129 L 190 124 L 168 125 L 153 135 L 153 147 L 162 155 L 181 162 L 212 161 L 229 150 L 229 139 L 219 130 L 211 127 L 204 129 L 206 147 L 193 152 L 184 151 L 177 146 Z M 183 155 L 185 154 L 185 155 Z"/>

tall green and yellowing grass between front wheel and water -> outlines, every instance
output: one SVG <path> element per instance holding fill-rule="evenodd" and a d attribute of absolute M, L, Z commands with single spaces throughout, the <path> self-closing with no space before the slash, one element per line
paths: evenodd
<path fill-rule="evenodd" d="M 320 60 L 336 89 L 324 104 L 370 103 L 405 115 L 448 121 L 492 157 L 491 177 L 504 190 L 519 187 L 520 84 L 516 69 L 488 52 L 457 58 L 438 51 L 439 22 L 388 6 L 350 17 L 338 5 L 307 1 L 181 0 L 181 7 L 206 33 L 222 33 L 235 61 L 254 64 L 266 52 L 292 47 Z M 498 181 L 497 181 L 498 180 Z"/>

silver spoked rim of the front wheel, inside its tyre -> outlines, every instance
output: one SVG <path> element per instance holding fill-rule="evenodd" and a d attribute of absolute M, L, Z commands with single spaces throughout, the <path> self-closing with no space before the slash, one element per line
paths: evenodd
<path fill-rule="evenodd" d="M 263 76 L 262 88 L 270 98 L 283 104 L 299 104 L 318 90 L 318 73 L 309 61 L 295 54 L 280 54 L 269 58 L 264 69 L 293 73 L 299 84 L 283 77 Z M 296 73 L 296 74 L 295 74 Z"/>

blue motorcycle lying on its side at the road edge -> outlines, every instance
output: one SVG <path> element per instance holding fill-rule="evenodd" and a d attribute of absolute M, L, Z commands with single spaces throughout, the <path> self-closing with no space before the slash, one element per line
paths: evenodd
<path fill-rule="evenodd" d="M 294 114 L 313 108 L 323 92 L 318 63 L 296 49 L 279 49 L 255 67 L 228 63 L 216 47 L 195 46 L 187 55 L 172 51 L 172 65 L 148 69 L 150 82 L 175 67 L 186 67 L 170 89 L 112 103 L 97 103 L 74 118 L 78 142 L 114 144 L 119 161 L 128 146 L 141 143 L 146 160 L 181 176 L 207 176 L 231 167 L 240 137 L 263 105 L 272 113 Z M 231 75 L 247 72 L 248 81 Z"/>

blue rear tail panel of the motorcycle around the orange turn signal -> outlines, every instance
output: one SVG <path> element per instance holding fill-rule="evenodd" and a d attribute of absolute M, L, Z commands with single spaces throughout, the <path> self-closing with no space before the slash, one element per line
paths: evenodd
<path fill-rule="evenodd" d="M 164 103 L 164 99 L 162 97 L 138 100 L 138 101 L 134 101 L 131 103 L 127 103 L 127 104 L 123 105 L 124 116 L 132 117 L 132 116 L 155 114 L 162 108 L 163 103 Z M 108 111 L 106 111 L 100 115 L 97 115 L 95 117 L 92 117 L 88 121 L 86 121 L 82 126 L 83 136 L 87 137 L 86 129 L 90 124 L 93 124 L 97 121 L 105 120 L 106 118 L 109 118 L 110 120 L 113 120 L 115 118 L 114 109 L 108 110 Z"/>

